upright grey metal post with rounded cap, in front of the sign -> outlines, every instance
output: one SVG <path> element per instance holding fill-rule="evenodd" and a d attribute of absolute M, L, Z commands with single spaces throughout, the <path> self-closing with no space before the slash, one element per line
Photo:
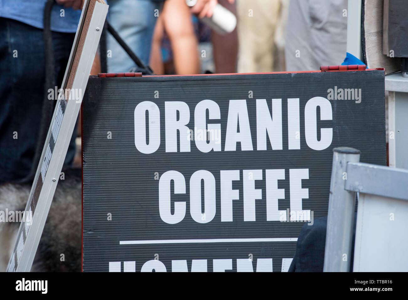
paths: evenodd
<path fill-rule="evenodd" d="M 344 183 L 347 180 L 347 163 L 359 162 L 359 160 L 360 151 L 357 149 L 349 147 L 333 149 L 324 272 L 348 272 L 350 270 L 355 192 L 344 190 Z"/>

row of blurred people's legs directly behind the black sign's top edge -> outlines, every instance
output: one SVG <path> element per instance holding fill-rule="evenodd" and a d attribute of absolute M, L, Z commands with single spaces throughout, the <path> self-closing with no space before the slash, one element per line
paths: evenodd
<path fill-rule="evenodd" d="M 217 3 L 237 18 L 231 33 L 202 21 Z M 192 8 L 186 0 L 108 4 L 109 22 L 157 75 L 319 70 L 346 56 L 347 0 L 197 0 Z M 136 67 L 109 34 L 106 49 L 109 73 Z"/>

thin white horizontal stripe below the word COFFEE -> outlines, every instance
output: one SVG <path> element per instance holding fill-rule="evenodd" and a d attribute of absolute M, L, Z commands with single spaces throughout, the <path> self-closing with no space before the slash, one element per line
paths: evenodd
<path fill-rule="evenodd" d="M 184 243 L 256 243 L 297 242 L 297 238 L 210 238 L 195 240 L 121 240 L 119 245 L 184 244 Z"/>

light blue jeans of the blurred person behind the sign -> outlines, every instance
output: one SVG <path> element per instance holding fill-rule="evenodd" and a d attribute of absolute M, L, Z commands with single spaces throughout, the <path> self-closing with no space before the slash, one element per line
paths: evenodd
<path fill-rule="evenodd" d="M 109 0 L 109 22 L 130 49 L 144 62 L 149 64 L 153 30 L 158 15 L 155 9 L 160 3 L 148 0 Z M 106 36 L 106 57 L 109 73 L 128 72 L 136 64 L 122 49 L 110 33 Z"/>

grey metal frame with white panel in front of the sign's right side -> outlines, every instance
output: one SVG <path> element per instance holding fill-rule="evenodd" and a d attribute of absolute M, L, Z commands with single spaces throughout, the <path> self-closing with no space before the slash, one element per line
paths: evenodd
<path fill-rule="evenodd" d="M 359 150 L 333 149 L 324 271 L 408 271 L 408 170 L 359 163 Z"/>

